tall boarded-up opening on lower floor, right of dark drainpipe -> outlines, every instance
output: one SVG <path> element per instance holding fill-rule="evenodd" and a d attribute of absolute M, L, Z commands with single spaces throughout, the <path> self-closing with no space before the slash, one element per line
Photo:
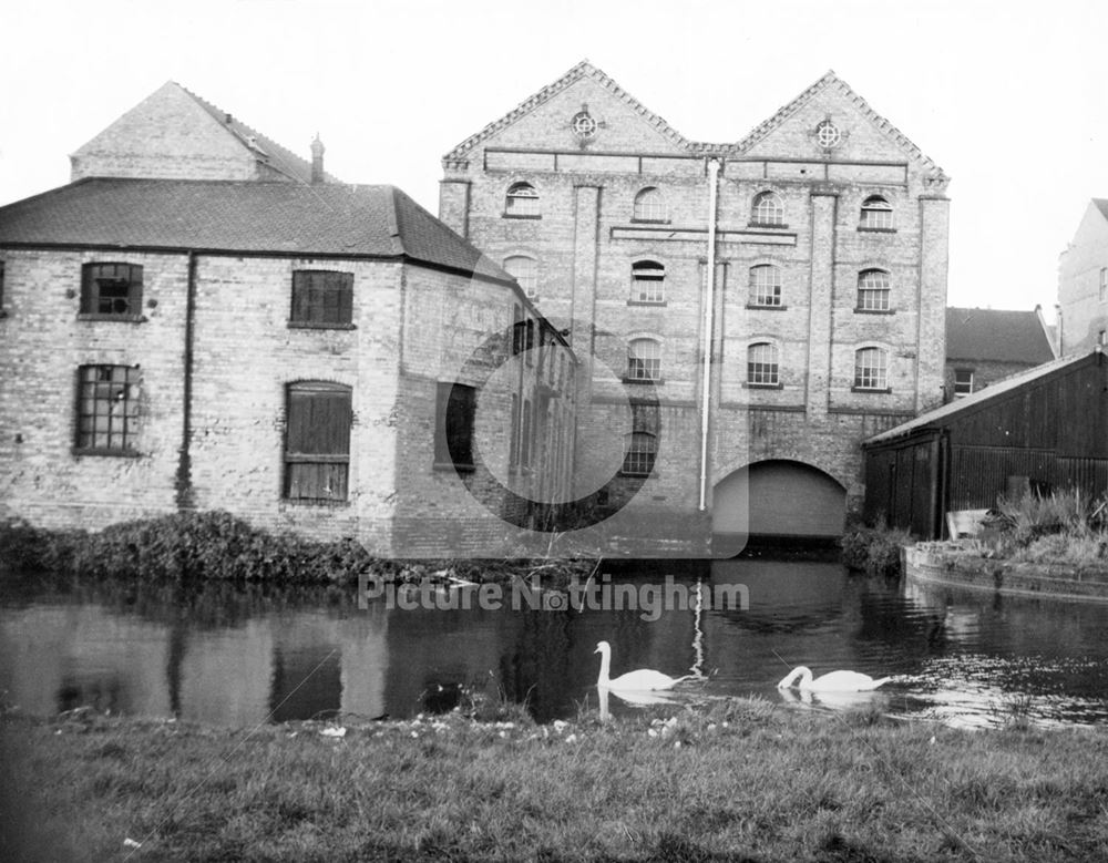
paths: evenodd
<path fill-rule="evenodd" d="M 285 496 L 345 501 L 350 472 L 350 388 L 324 381 L 288 386 Z"/>

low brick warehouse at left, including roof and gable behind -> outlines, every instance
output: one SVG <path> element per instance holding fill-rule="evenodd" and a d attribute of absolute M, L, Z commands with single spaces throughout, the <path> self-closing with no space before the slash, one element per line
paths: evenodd
<path fill-rule="evenodd" d="M 166 85 L 0 208 L 0 517 L 220 508 L 442 555 L 564 497 L 575 360 L 519 285 L 222 116 Z"/>

